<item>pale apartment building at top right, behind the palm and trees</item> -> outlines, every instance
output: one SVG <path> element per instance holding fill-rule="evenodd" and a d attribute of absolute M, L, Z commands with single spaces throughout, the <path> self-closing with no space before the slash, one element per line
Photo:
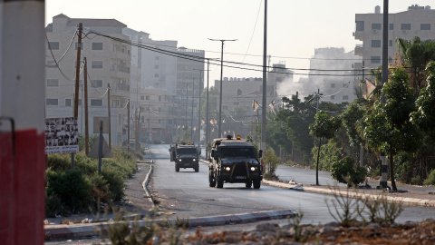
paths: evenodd
<path fill-rule="evenodd" d="M 430 6 L 411 5 L 407 11 L 389 14 L 388 16 L 388 59 L 393 64 L 398 52 L 397 38 L 411 40 L 419 36 L 421 40 L 435 39 L 435 10 Z M 383 16 L 381 7 L 376 6 L 374 13 L 356 14 L 356 29 L 353 33 L 356 40 L 362 41 L 355 47 L 355 54 L 360 55 L 364 67 L 377 68 L 382 65 L 382 28 Z M 355 69 L 361 67 L 355 64 Z"/>

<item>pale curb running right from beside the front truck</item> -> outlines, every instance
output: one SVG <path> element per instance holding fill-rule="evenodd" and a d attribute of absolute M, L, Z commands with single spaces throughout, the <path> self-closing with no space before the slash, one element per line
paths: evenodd
<path fill-rule="evenodd" d="M 306 191 L 306 192 L 312 192 L 312 193 L 319 193 L 319 194 L 326 194 L 326 195 L 348 195 L 351 198 L 369 198 L 369 199 L 378 199 L 383 197 L 383 195 L 379 194 L 366 194 L 366 193 L 359 193 L 359 192 L 353 192 L 353 191 L 335 191 L 330 189 L 321 189 L 321 188 L 315 188 L 315 187 L 304 187 L 302 184 L 288 184 L 278 181 L 266 181 L 263 180 L 263 182 L 267 185 L 283 188 L 283 189 L 290 189 L 295 191 Z M 409 206 L 419 206 L 419 207 L 435 207 L 435 200 L 427 200 L 427 199 L 414 199 L 414 198 L 407 198 L 407 197 L 386 197 L 387 201 L 392 202 L 403 202 L 404 204 L 407 204 Z"/>

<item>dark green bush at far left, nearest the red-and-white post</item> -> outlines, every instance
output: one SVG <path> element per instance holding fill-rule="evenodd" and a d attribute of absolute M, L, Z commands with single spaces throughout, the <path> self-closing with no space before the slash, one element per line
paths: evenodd
<path fill-rule="evenodd" d="M 57 196 L 67 211 L 76 213 L 87 208 L 91 201 L 91 184 L 80 170 L 45 171 L 47 197 Z"/>

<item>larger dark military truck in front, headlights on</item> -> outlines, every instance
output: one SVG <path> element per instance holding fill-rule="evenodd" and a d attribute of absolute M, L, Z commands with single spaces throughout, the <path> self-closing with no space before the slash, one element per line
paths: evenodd
<path fill-rule="evenodd" d="M 262 151 L 256 153 L 252 142 L 237 135 L 233 139 L 215 139 L 212 144 L 211 158 L 208 164 L 208 185 L 223 188 L 224 182 L 245 183 L 246 188 L 259 189 L 263 180 L 263 167 L 258 158 Z"/>

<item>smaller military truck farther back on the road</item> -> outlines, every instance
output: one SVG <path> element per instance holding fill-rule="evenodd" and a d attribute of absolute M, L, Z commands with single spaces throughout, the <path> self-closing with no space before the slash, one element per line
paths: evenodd
<path fill-rule="evenodd" d="M 180 168 L 193 168 L 195 171 L 199 171 L 198 160 L 201 152 L 200 148 L 198 149 L 194 144 L 171 144 L 169 153 L 170 162 L 175 162 L 175 171 L 179 171 Z"/>

